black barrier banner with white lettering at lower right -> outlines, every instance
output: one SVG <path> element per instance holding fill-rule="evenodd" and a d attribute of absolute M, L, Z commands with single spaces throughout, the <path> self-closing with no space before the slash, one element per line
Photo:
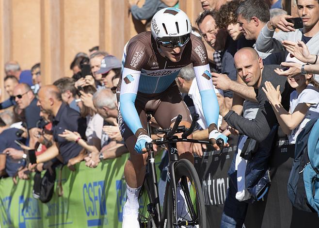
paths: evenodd
<path fill-rule="evenodd" d="M 220 227 L 223 204 L 229 186 L 227 172 L 236 152 L 236 146 L 195 157 L 195 168 L 204 192 L 209 227 Z M 288 145 L 287 137 L 277 138 L 270 158 L 271 186 L 262 200 L 249 204 L 243 227 L 246 228 L 301 228 L 318 227 L 315 213 L 303 212 L 292 207 L 287 196 L 287 182 L 293 163 L 294 145 Z"/>

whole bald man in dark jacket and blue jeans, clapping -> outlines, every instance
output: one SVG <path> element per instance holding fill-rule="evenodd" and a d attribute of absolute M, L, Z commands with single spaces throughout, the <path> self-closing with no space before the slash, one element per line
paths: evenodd
<path fill-rule="evenodd" d="M 257 192 L 262 195 L 268 191 L 266 187 L 269 183 L 269 157 L 271 156 L 272 142 L 278 123 L 276 115 L 262 90 L 265 81 L 271 81 L 275 88 L 280 86 L 281 105 L 287 111 L 289 110 L 290 93 L 293 90 L 286 77 L 281 77 L 274 72 L 274 69 L 280 66 L 263 65 L 262 59 L 255 49 L 239 49 L 234 56 L 234 62 L 239 78 L 245 83 L 236 82 L 240 87 L 236 92 L 243 98 L 253 98 L 255 96 L 259 109 L 255 119 L 250 120 L 234 111 L 229 111 L 224 105 L 223 98 L 219 97 L 220 114 L 229 126 L 245 135 L 239 138 L 239 148 L 243 149 L 244 140 L 247 139 L 247 136 L 250 139 L 255 139 L 258 143 L 254 145 L 255 150 L 253 152 L 241 150 L 245 153 L 244 157 L 248 161 L 242 159 L 237 153 L 234 155 L 228 171 L 230 181 L 223 208 L 221 228 L 242 227 L 248 207 L 248 203 L 244 200 L 250 197 L 256 199 Z M 250 146 L 252 146 L 251 142 L 254 141 L 250 141 Z M 249 156 L 246 157 L 247 152 L 250 152 L 254 159 Z M 240 161 L 240 165 L 236 169 L 237 161 Z M 247 163 L 247 167 L 245 163 Z M 239 177 L 241 177 L 241 180 L 239 180 Z"/>

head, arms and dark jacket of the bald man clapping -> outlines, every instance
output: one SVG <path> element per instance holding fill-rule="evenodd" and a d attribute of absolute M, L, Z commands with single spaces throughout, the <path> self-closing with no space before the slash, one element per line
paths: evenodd
<path fill-rule="evenodd" d="M 221 105 L 220 114 L 229 126 L 261 142 L 268 136 L 272 126 L 277 123 L 276 116 L 262 90 L 265 81 L 271 81 L 275 88 L 280 85 L 281 103 L 287 111 L 289 110 L 290 93 L 293 89 L 288 84 L 286 77 L 281 77 L 274 72 L 274 69 L 277 67 L 280 68 L 280 66 L 263 65 L 262 59 L 255 49 L 240 49 L 234 56 L 234 62 L 239 77 L 247 85 L 246 87 L 243 87 L 245 85 L 240 85 L 242 89 L 238 89 L 236 92 L 239 96 L 246 99 L 255 96 L 255 99 L 259 103 L 259 110 L 255 119 L 249 120 L 239 116 L 234 111 L 229 111 L 229 109 L 223 105 L 223 98 L 219 98 Z"/>

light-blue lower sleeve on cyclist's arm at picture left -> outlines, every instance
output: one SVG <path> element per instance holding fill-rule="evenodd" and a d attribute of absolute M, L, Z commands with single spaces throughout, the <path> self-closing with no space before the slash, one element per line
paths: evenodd
<path fill-rule="evenodd" d="M 128 128 L 135 134 L 139 128 L 143 128 L 140 117 L 135 108 L 136 94 L 126 93 L 120 95 L 120 112 Z"/>

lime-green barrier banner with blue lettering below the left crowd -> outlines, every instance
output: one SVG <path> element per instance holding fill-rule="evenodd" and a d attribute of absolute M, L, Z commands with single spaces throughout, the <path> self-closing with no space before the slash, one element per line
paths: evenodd
<path fill-rule="evenodd" d="M 161 153 L 156 156 L 159 163 Z M 64 195 L 55 193 L 47 203 L 32 197 L 33 175 L 30 180 L 0 179 L 0 227 L 122 227 L 122 211 L 126 202 L 124 164 L 128 154 L 106 160 L 95 169 L 84 162 L 76 171 L 62 169 Z M 60 168 L 57 168 L 57 177 Z M 158 173 L 159 176 L 159 173 Z M 57 181 L 57 180 L 56 180 Z M 56 182 L 57 183 L 57 182 Z"/>

